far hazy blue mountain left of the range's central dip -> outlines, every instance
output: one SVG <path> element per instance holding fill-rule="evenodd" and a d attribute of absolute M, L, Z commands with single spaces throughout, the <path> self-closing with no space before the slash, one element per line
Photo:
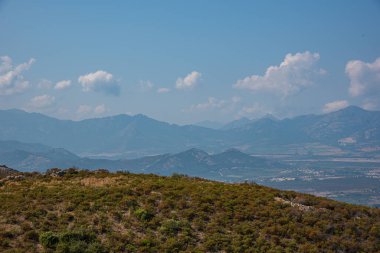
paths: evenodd
<path fill-rule="evenodd" d="M 223 148 L 222 135 L 216 130 L 178 126 L 141 114 L 70 121 L 20 110 L 0 111 L 0 140 L 38 142 L 85 155 L 107 152 L 136 157 L 191 147 Z"/>

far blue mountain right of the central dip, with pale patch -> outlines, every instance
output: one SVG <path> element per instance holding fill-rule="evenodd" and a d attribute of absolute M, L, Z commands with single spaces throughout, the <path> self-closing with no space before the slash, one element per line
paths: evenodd
<path fill-rule="evenodd" d="M 322 115 L 304 115 L 291 119 L 263 118 L 231 129 L 240 145 L 277 149 L 281 146 L 305 146 L 310 143 L 339 148 L 380 146 L 380 112 L 350 106 Z"/>

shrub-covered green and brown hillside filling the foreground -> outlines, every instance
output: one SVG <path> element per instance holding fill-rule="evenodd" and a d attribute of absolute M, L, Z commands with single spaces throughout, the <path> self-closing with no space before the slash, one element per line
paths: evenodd
<path fill-rule="evenodd" d="M 69 169 L 0 203 L 0 252 L 380 251 L 379 209 L 250 183 Z"/>

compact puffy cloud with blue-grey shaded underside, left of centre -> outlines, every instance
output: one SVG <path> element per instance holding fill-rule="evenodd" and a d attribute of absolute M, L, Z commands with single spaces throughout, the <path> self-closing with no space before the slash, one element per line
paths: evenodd
<path fill-rule="evenodd" d="M 98 70 L 78 78 L 84 92 L 96 91 L 107 95 L 120 95 L 120 85 L 111 73 Z"/>

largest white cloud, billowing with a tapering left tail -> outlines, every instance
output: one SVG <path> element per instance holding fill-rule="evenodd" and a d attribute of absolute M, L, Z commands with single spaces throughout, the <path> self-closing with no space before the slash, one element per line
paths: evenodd
<path fill-rule="evenodd" d="M 275 92 L 287 97 L 311 85 L 316 76 L 325 73 L 325 70 L 316 66 L 319 58 L 318 53 L 309 51 L 287 54 L 279 66 L 268 67 L 263 76 L 248 76 L 233 86 L 252 91 Z"/>

